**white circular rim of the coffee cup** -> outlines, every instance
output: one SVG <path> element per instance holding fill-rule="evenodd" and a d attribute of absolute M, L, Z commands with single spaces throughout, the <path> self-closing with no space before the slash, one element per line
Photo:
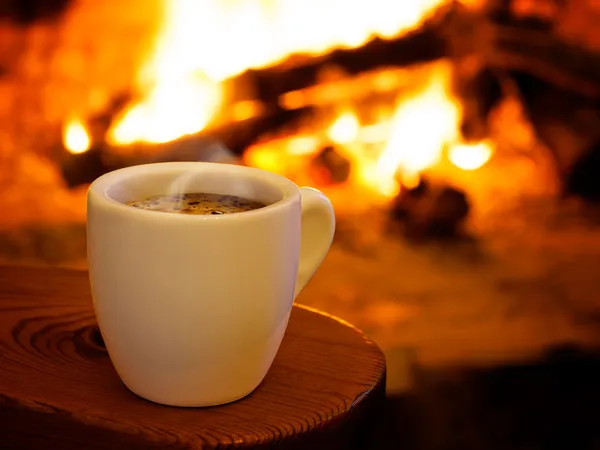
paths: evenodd
<path fill-rule="evenodd" d="M 118 182 L 125 180 L 135 174 L 150 173 L 159 174 L 163 172 L 172 172 L 181 170 L 184 171 L 199 171 L 200 168 L 204 170 L 209 168 L 213 172 L 223 172 L 227 174 L 231 173 L 245 173 L 254 175 L 257 180 L 261 180 L 271 186 L 276 187 L 282 194 L 281 198 L 270 203 L 262 208 L 253 209 L 250 211 L 241 211 L 233 214 L 170 214 L 170 213 L 159 213 L 142 208 L 134 208 L 125 203 L 112 198 L 109 195 L 109 190 L 115 186 Z M 140 217 L 152 217 L 154 219 L 164 220 L 233 220 L 240 216 L 248 217 L 250 215 L 264 214 L 274 209 L 285 207 L 286 205 L 293 203 L 300 197 L 299 187 L 288 180 L 287 178 L 278 175 L 273 172 L 268 172 L 254 167 L 239 166 L 235 164 L 225 163 L 211 163 L 211 162 L 200 162 L 200 161 L 186 161 L 186 162 L 161 162 L 161 163 L 149 163 L 149 164 L 138 164 L 134 166 L 124 167 L 122 169 L 113 170 L 107 172 L 104 175 L 96 178 L 88 188 L 88 209 L 89 202 L 94 201 L 95 203 L 106 207 L 115 209 L 122 213 L 139 214 Z M 150 214 L 150 216 L 148 216 Z"/>

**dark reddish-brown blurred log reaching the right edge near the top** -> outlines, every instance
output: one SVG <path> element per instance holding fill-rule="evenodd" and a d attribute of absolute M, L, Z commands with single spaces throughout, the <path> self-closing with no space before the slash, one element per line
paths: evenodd
<path fill-rule="evenodd" d="M 454 58 L 475 56 L 481 66 L 496 73 L 524 72 L 562 89 L 599 98 L 600 53 L 561 32 L 558 10 L 552 18 L 532 18 L 515 13 L 514 3 L 490 1 L 481 11 L 459 6 L 450 9 L 440 28 L 449 54 Z"/>

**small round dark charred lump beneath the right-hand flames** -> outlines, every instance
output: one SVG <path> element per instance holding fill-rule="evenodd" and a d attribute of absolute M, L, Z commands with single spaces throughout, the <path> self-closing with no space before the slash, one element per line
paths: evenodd
<path fill-rule="evenodd" d="M 469 213 L 464 192 L 448 185 L 432 185 L 421 179 L 414 188 L 404 188 L 393 200 L 390 215 L 412 237 L 452 237 Z"/>

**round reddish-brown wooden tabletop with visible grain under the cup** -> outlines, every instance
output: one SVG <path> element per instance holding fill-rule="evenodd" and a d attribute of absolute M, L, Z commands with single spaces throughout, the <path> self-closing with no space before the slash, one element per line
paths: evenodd
<path fill-rule="evenodd" d="M 0 448 L 361 448 L 385 401 L 385 360 L 360 331 L 295 306 L 250 396 L 157 405 L 119 380 L 87 273 L 0 266 Z"/>

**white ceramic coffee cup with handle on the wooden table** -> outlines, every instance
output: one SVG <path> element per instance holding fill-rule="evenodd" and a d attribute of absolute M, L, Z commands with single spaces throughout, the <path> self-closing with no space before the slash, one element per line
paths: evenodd
<path fill-rule="evenodd" d="M 126 205 L 185 192 L 267 206 L 188 215 Z M 113 365 L 131 391 L 173 406 L 231 402 L 261 383 L 335 228 L 331 203 L 315 189 L 198 162 L 103 175 L 90 186 L 87 214 L 94 310 Z"/>

